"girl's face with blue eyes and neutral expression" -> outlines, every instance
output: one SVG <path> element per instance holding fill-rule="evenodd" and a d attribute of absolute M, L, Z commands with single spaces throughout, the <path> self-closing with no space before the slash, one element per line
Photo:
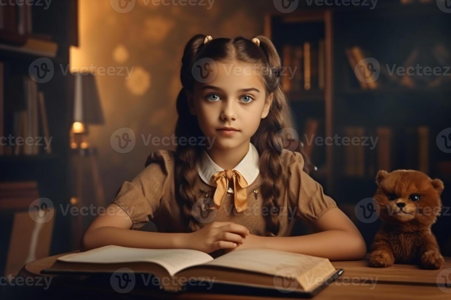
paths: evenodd
<path fill-rule="evenodd" d="M 203 134 L 216 147 L 233 149 L 249 143 L 268 115 L 273 94 L 267 97 L 261 69 L 254 64 L 216 62 L 212 67 L 216 68 L 214 80 L 196 82 L 188 93 L 190 113 L 197 116 Z"/>

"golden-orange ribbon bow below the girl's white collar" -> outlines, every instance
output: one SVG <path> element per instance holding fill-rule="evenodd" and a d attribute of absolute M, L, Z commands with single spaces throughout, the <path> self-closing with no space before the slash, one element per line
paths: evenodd
<path fill-rule="evenodd" d="M 235 194 L 235 208 L 237 212 L 242 212 L 248 208 L 246 187 L 248 183 L 237 170 L 224 170 L 218 171 L 213 174 L 213 181 L 216 182 L 217 188 L 213 201 L 216 203 L 216 207 L 221 206 L 221 200 L 227 192 L 229 186 L 229 179 L 233 179 L 233 189 Z"/>

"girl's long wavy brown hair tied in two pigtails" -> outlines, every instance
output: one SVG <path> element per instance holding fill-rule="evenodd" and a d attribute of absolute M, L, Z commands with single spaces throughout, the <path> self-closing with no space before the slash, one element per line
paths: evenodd
<path fill-rule="evenodd" d="M 279 207 L 283 184 L 287 183 L 288 171 L 281 163 L 282 143 L 277 138 L 280 130 L 290 126 L 290 108 L 287 97 L 282 90 L 281 59 L 276 48 L 265 36 L 257 36 L 260 45 L 254 44 L 244 37 L 235 39 L 217 38 L 204 45 L 204 35 L 193 36 L 187 43 L 182 57 L 180 80 L 183 88 L 177 97 L 177 112 L 179 114 L 175 135 L 177 137 L 204 136 L 197 117 L 189 113 L 186 91 L 192 91 L 195 79 L 192 73 L 193 65 L 201 58 L 211 58 L 215 61 L 239 60 L 247 63 L 258 63 L 265 66 L 268 72 L 262 74 L 267 95 L 274 93 L 274 98 L 268 116 L 261 120 L 257 132 L 252 136 L 251 143 L 260 155 L 259 169 L 263 183 L 261 193 L 263 207 Z M 194 183 L 198 178 L 196 162 L 200 159 L 202 147 L 193 145 L 178 145 L 175 151 L 175 193 L 182 207 L 183 214 L 189 222 L 191 231 L 198 230 L 198 221 L 191 214 L 193 204 L 198 200 L 194 192 Z M 302 153 L 299 147 L 297 151 Z M 304 155 L 303 155 L 304 156 Z M 304 171 L 308 172 L 310 161 L 304 156 Z M 266 219 L 266 234 L 277 235 L 279 218 L 276 214 L 268 214 Z"/>

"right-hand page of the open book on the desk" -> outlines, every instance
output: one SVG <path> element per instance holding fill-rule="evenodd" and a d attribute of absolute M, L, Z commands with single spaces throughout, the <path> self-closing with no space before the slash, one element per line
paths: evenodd
<path fill-rule="evenodd" d="M 232 251 L 207 262 L 205 265 L 222 266 L 269 275 L 280 273 L 284 268 L 293 268 L 299 277 L 311 273 L 313 269 L 317 273 L 315 274 L 316 276 L 327 276 L 335 271 L 333 265 L 326 258 L 269 249 Z"/>

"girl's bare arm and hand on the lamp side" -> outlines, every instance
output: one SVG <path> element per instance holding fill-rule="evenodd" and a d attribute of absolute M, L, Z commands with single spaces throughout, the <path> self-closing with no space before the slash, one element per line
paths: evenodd
<path fill-rule="evenodd" d="M 194 233 L 130 230 L 132 225 L 132 220 L 124 210 L 111 203 L 106 207 L 106 213 L 97 216 L 86 229 L 80 250 L 117 245 L 149 249 L 194 249 L 212 253 L 220 249 L 234 249 L 249 234 L 247 228 L 231 222 L 214 222 Z"/>

